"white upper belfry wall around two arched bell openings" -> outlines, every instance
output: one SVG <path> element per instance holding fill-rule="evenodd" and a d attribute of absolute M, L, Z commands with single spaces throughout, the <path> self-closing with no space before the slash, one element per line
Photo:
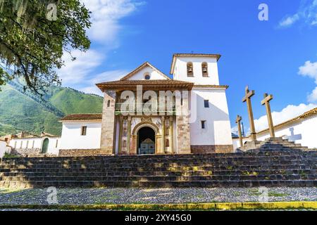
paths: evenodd
<path fill-rule="evenodd" d="M 187 63 L 193 64 L 194 77 L 187 77 Z M 209 77 L 203 77 L 201 63 L 206 62 L 208 65 Z M 194 84 L 214 84 L 219 85 L 218 64 L 216 58 L 206 57 L 178 57 L 175 61 L 173 79 L 179 79 Z"/>

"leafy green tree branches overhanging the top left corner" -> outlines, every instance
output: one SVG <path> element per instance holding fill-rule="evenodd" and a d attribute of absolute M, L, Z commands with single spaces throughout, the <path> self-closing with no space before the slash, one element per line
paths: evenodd
<path fill-rule="evenodd" d="M 89 13 L 80 0 L 0 0 L 0 85 L 23 77 L 42 95 L 61 84 L 63 53 L 89 49 Z"/>

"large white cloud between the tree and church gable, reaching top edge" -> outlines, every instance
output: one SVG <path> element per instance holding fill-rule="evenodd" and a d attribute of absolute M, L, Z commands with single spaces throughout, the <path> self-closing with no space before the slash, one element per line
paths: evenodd
<path fill-rule="evenodd" d="M 63 85 L 72 86 L 89 93 L 98 93 L 94 83 L 99 77 L 116 77 L 113 70 L 103 74 L 93 75 L 94 71 L 104 63 L 108 51 L 118 48 L 118 32 L 122 28 L 120 19 L 136 11 L 137 6 L 144 4 L 137 0 L 80 0 L 92 12 L 92 27 L 87 30 L 92 43 L 98 43 L 101 48 L 89 49 L 86 53 L 72 51 L 76 60 L 71 60 L 68 53 L 64 53 L 65 66 L 58 71 Z M 111 78 L 111 79 L 113 79 Z M 99 82 L 106 81 L 99 80 Z M 86 86 L 85 86 L 86 85 Z M 82 87 L 84 86 L 84 87 Z"/>

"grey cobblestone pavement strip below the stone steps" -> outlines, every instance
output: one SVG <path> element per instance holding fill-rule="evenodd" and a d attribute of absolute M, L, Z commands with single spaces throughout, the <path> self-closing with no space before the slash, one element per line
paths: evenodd
<path fill-rule="evenodd" d="M 47 188 L 0 188 L 0 205 L 47 205 L 50 193 L 47 191 Z M 270 202 L 317 201 L 317 188 L 57 188 L 58 204 L 65 205 L 237 203 L 259 202 L 266 196 Z"/>

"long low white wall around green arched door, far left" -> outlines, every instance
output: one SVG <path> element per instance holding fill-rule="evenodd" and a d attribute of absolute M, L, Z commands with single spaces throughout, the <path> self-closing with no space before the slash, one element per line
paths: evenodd
<path fill-rule="evenodd" d="M 49 139 L 49 146 L 47 148 L 47 153 L 51 155 L 58 155 L 58 149 L 60 146 L 61 138 L 60 137 L 37 137 L 29 139 L 11 139 L 9 146 L 13 149 L 31 149 L 39 148 L 42 149 L 44 139 Z"/>

